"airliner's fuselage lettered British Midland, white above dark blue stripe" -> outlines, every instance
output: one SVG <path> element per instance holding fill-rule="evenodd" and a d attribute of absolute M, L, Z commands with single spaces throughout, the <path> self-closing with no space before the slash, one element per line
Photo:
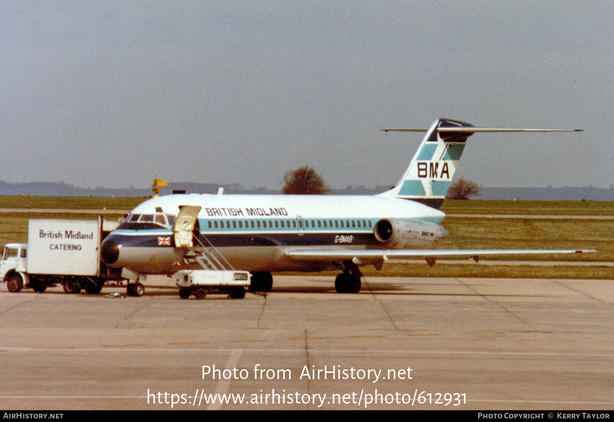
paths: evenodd
<path fill-rule="evenodd" d="M 103 260 L 109 266 L 142 274 L 193 268 L 194 264 L 184 259 L 185 248 L 174 247 L 174 218 L 170 217 L 175 217 L 182 205 L 201 207 L 200 237 L 211 242 L 235 269 L 249 271 L 335 267 L 332 262 L 288 259 L 286 252 L 296 248 L 424 247 L 447 234 L 437 224 L 445 217 L 443 212 L 385 195 L 174 194 L 149 199 L 134 208 L 127 222 L 103 243 Z M 403 236 L 399 234 L 402 243 L 378 240 L 374 231 L 384 219 L 411 226 Z"/>

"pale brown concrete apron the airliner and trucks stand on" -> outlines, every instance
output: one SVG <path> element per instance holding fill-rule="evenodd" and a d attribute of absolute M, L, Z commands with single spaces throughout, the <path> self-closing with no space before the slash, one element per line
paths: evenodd
<path fill-rule="evenodd" d="M 338 294 L 276 276 L 200 301 L 167 277 L 142 297 L 0 285 L 0 407 L 610 410 L 612 285 L 365 277 Z"/>

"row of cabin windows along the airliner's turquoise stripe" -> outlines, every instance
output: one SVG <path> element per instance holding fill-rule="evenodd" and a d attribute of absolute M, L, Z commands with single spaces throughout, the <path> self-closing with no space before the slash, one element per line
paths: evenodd
<path fill-rule="evenodd" d="M 371 228 L 371 220 L 209 220 L 210 229 Z"/>

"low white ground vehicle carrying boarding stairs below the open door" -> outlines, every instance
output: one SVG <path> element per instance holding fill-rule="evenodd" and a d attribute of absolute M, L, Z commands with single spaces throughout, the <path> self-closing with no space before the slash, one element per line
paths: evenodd
<path fill-rule="evenodd" d="M 231 299 L 243 299 L 252 275 L 235 270 L 180 270 L 175 274 L 179 296 L 204 299 L 207 294 L 228 294 Z"/>

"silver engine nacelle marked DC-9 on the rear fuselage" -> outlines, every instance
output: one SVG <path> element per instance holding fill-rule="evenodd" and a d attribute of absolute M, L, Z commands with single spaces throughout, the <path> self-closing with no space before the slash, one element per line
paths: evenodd
<path fill-rule="evenodd" d="M 375 224 L 375 239 L 390 249 L 422 247 L 448 236 L 439 224 L 402 218 L 384 218 Z"/>

